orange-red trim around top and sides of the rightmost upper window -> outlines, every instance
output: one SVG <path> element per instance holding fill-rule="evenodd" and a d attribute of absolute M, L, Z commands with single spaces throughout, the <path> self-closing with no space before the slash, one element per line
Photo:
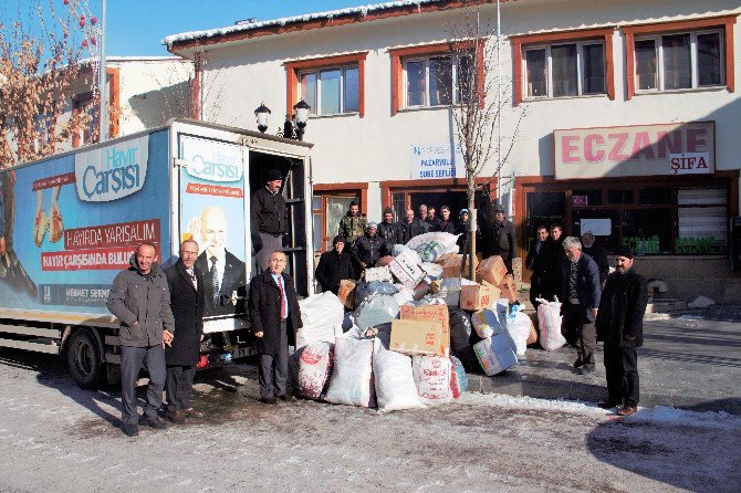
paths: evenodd
<path fill-rule="evenodd" d="M 628 99 L 636 94 L 636 69 L 635 69 L 635 36 L 636 34 L 665 34 L 677 31 L 695 31 L 701 29 L 722 29 L 726 44 L 726 87 L 729 93 L 735 91 L 735 66 L 733 59 L 733 24 L 737 15 L 714 17 L 707 19 L 692 19 L 687 21 L 659 22 L 655 24 L 627 25 L 625 32 L 625 56 L 628 81 Z"/>

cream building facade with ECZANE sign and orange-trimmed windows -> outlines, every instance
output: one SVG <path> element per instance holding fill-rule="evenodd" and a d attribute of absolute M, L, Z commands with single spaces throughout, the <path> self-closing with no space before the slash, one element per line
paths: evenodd
<path fill-rule="evenodd" d="M 466 207 L 453 112 L 473 70 L 491 87 L 482 106 L 502 108 L 478 207 L 508 207 L 522 256 L 538 225 L 560 222 L 608 251 L 633 246 L 669 295 L 732 301 L 740 13 L 731 0 L 418 0 L 165 43 L 196 63 L 194 116 L 253 128 L 264 103 L 274 132 L 294 103 L 312 106 L 316 251 L 351 200 L 374 220 Z"/>

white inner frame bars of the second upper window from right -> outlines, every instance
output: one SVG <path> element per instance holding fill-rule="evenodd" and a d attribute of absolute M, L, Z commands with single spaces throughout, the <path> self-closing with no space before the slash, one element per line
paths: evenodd
<path fill-rule="evenodd" d="M 553 95 L 553 55 L 552 50 L 554 46 L 566 46 L 566 45 L 576 46 L 576 94 L 566 95 L 566 96 L 554 96 Z M 584 64 L 584 46 L 595 46 L 599 45 L 603 49 L 603 83 L 604 91 L 601 93 L 585 93 L 585 64 Z M 529 96 L 528 95 L 528 53 L 531 51 L 545 50 L 545 70 L 546 70 L 546 81 L 545 81 L 545 95 L 543 96 Z M 540 44 L 528 44 L 522 48 L 522 70 L 523 70 L 523 83 L 525 84 L 525 90 L 523 91 L 523 101 L 533 101 L 533 99 L 560 99 L 564 97 L 586 97 L 586 96 L 604 96 L 607 95 L 607 48 L 605 42 L 598 39 L 591 40 L 577 40 L 577 41 L 557 41 L 553 43 L 540 43 Z"/>

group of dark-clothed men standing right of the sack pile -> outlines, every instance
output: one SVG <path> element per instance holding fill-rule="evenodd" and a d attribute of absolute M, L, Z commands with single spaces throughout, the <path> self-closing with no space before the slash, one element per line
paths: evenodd
<path fill-rule="evenodd" d="M 582 238 L 562 238 L 560 224 L 539 227 L 525 265 L 532 271 L 530 297 L 561 302 L 561 333 L 576 348 L 574 368 L 595 370 L 597 340 L 605 344 L 604 364 L 608 397 L 599 407 L 636 412 L 639 399 L 636 348 L 643 345 L 643 317 L 648 294 L 646 280 L 633 269 L 627 246 L 615 250 L 615 272 L 607 252 L 595 244 L 591 231 Z"/>

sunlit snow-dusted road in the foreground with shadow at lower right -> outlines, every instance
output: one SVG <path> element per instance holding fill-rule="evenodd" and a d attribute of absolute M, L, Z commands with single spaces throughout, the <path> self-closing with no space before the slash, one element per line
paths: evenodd
<path fill-rule="evenodd" d="M 741 418 L 468 394 L 416 411 L 257 401 L 250 369 L 199 377 L 209 418 L 136 439 L 114 391 L 0 352 L 2 492 L 735 492 Z M 674 412 L 674 413 L 672 413 Z"/>

